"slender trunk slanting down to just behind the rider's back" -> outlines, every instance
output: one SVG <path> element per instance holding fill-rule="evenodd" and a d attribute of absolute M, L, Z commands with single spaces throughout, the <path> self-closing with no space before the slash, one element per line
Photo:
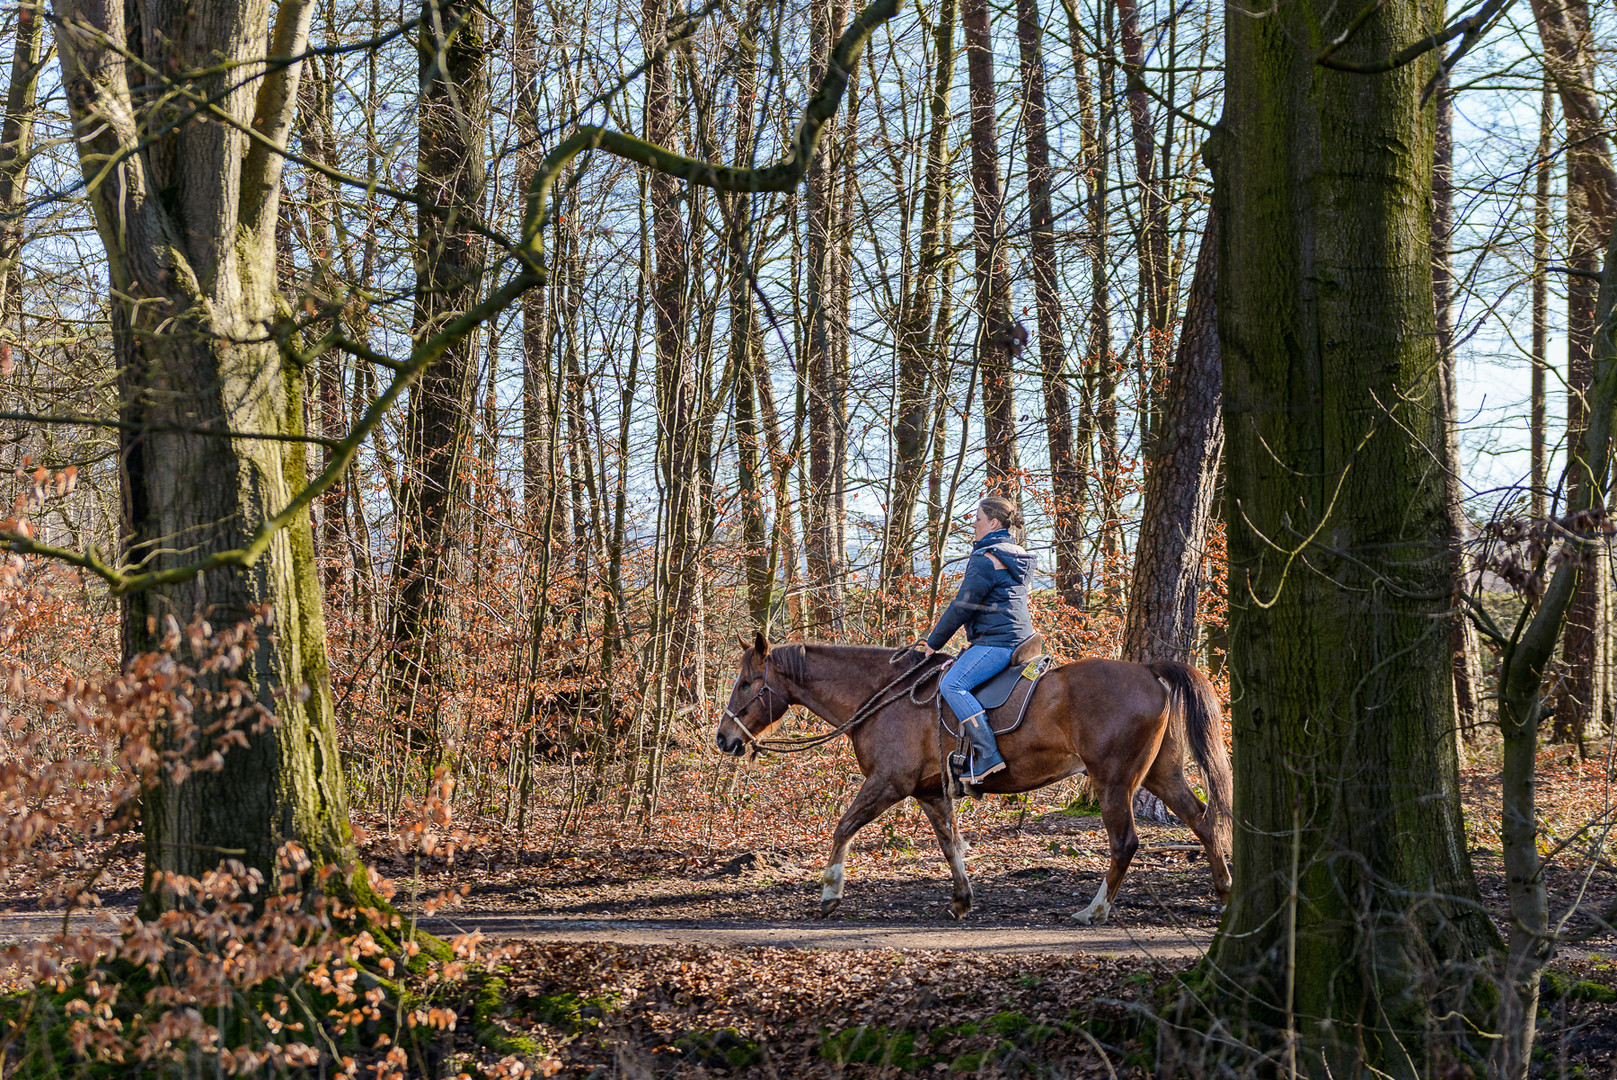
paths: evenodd
<path fill-rule="evenodd" d="M 1049 446 L 1049 513 L 1056 542 L 1056 592 L 1082 605 L 1083 479 L 1072 449 L 1072 401 L 1067 396 L 1067 348 L 1061 333 L 1061 283 L 1056 273 L 1056 223 L 1051 210 L 1054 170 L 1045 110 L 1043 31 L 1038 0 L 1017 0 L 1017 44 L 1022 52 L 1024 131 L 1027 133 L 1028 244 L 1033 304 L 1038 310 L 1038 361 L 1045 386 L 1045 441 Z"/>

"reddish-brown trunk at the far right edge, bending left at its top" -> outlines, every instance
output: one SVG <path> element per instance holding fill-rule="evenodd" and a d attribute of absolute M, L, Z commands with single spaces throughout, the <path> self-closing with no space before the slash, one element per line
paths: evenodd
<path fill-rule="evenodd" d="M 1585 275 L 1601 267 L 1601 254 L 1617 218 L 1617 171 L 1594 91 L 1594 34 L 1586 0 L 1533 0 L 1533 18 L 1544 42 L 1544 66 L 1560 92 L 1567 118 L 1567 446 L 1583 441 L 1588 393 L 1593 382 L 1590 341 L 1594 335 L 1598 285 Z M 1567 477 L 1567 496 L 1588 477 Z M 1578 742 L 1602 702 L 1594 700 L 1596 671 L 1606 652 L 1601 632 L 1601 574 L 1585 574 L 1567 613 L 1560 647 L 1562 677 L 1556 692 L 1557 742 Z"/>

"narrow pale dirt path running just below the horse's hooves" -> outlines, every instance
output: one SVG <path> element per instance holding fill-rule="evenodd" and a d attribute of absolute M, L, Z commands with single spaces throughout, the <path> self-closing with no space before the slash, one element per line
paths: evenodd
<path fill-rule="evenodd" d="M 103 909 L 125 915 L 120 909 Z M 84 917 L 74 917 L 84 926 Z M 1014 925 L 999 920 L 959 925 L 899 920 L 741 920 L 741 918 L 577 918 L 501 912 L 424 918 L 435 934 L 482 931 L 496 941 L 558 941 L 614 944 L 707 944 L 775 949 L 943 949 L 996 956 L 1083 952 L 1088 956 L 1140 956 L 1195 959 L 1213 939 L 1201 926 L 1051 926 Z M 34 941 L 61 930 L 61 915 L 50 912 L 0 912 L 0 944 Z"/>

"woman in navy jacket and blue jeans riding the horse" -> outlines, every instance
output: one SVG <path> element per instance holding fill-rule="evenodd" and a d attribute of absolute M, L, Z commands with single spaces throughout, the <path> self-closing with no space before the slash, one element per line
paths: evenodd
<path fill-rule="evenodd" d="M 1006 766 L 994 729 L 972 690 L 1004 671 L 1015 647 L 1033 637 L 1027 585 L 1038 561 L 1011 538 L 1011 529 L 1019 524 L 1011 500 L 994 495 L 977 504 L 977 542 L 965 563 L 960 592 L 927 635 L 925 648 L 931 656 L 949 643 L 957 629 L 965 627 L 967 648 L 943 674 L 938 692 L 960 721 L 967 744 L 965 779 L 970 784 L 982 784 L 985 776 Z"/>

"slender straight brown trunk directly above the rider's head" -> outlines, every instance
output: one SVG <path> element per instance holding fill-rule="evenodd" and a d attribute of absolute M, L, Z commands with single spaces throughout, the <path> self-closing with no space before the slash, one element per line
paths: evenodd
<path fill-rule="evenodd" d="M 999 186 L 999 136 L 994 102 L 994 52 L 988 32 L 988 0 L 962 0 L 965 71 L 972 99 L 972 236 L 977 249 L 977 367 L 983 380 L 983 443 L 988 451 L 988 488 L 1022 501 L 1015 446 L 1017 323 L 1011 317 L 1011 275 L 1006 268 L 1004 192 Z"/>

